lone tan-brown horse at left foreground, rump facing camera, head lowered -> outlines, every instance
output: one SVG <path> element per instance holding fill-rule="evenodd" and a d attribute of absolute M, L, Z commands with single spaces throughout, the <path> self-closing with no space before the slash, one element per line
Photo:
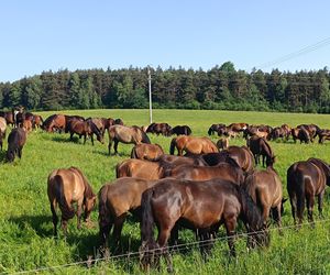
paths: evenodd
<path fill-rule="evenodd" d="M 84 220 L 89 221 L 89 216 L 96 204 L 96 195 L 82 172 L 77 167 L 54 169 L 48 175 L 47 195 L 53 215 L 54 235 L 57 235 L 56 207 L 62 212 L 62 228 L 67 234 L 67 222 L 75 217 L 73 204 L 77 204 L 77 228 L 81 228 L 81 211 L 85 210 Z"/>

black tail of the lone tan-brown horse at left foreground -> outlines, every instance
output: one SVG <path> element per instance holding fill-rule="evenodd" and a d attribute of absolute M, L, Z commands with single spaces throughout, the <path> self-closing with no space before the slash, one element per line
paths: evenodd
<path fill-rule="evenodd" d="M 55 197 L 62 211 L 62 219 L 69 220 L 75 217 L 75 209 L 72 208 L 64 195 L 64 183 L 59 175 L 55 175 L 51 180 L 57 183 L 55 186 Z"/>

